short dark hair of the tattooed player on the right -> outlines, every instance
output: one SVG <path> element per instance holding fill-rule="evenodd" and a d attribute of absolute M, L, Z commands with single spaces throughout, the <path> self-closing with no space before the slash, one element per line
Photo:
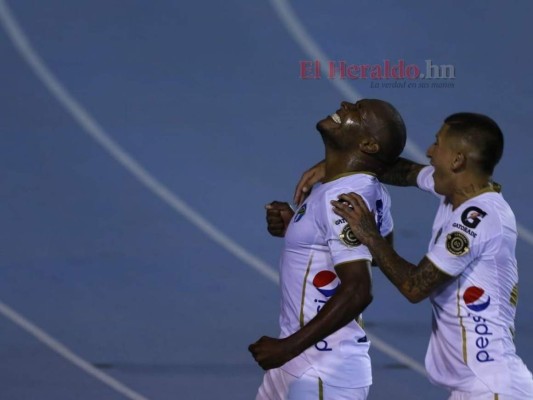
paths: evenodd
<path fill-rule="evenodd" d="M 480 170 L 492 175 L 503 154 L 503 133 L 498 124 L 486 115 L 468 112 L 452 114 L 444 123 L 477 151 Z"/>

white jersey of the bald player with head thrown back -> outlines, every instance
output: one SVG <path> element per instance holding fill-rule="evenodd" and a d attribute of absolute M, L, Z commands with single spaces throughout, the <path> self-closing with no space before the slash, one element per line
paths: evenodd
<path fill-rule="evenodd" d="M 349 192 L 360 194 L 376 212 L 383 235 L 392 231 L 390 196 L 376 177 L 356 173 L 315 186 L 285 234 L 280 263 L 282 338 L 313 319 L 335 293 L 340 283 L 335 265 L 372 260 L 368 248 L 353 236 L 346 221 L 333 212 L 330 201 Z M 298 377 L 314 368 L 332 386 L 369 386 L 372 383 L 369 346 L 364 330 L 354 320 L 281 368 Z"/>

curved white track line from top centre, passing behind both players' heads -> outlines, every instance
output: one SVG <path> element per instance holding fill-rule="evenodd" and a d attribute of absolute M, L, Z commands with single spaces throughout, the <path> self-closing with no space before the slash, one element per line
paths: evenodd
<path fill-rule="evenodd" d="M 329 58 L 322 51 L 318 44 L 315 43 L 315 41 L 311 38 L 309 33 L 307 33 L 305 27 L 296 16 L 292 7 L 289 5 L 289 2 L 287 0 L 270 0 L 270 3 L 294 41 L 298 43 L 298 45 L 310 59 L 320 61 L 322 72 L 327 76 L 329 71 L 327 70 L 326 65 L 328 65 L 328 62 L 331 60 L 331 58 Z M 342 79 L 329 79 L 329 82 L 331 82 L 331 84 L 335 86 L 347 99 L 355 101 L 363 97 L 357 92 L 357 90 L 355 90 Z M 405 152 L 414 161 L 421 164 L 426 164 L 427 157 L 425 156 L 425 153 L 417 144 L 410 141 L 409 138 L 407 138 Z M 516 223 L 516 227 L 519 237 L 526 243 L 533 245 L 533 232 L 518 222 Z"/>

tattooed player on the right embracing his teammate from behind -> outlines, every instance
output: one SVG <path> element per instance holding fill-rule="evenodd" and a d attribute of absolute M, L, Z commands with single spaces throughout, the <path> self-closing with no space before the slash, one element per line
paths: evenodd
<path fill-rule="evenodd" d="M 491 181 L 502 152 L 503 135 L 492 119 L 458 113 L 446 118 L 428 149 L 431 166 L 400 158 L 380 176 L 385 183 L 418 186 L 440 198 L 429 249 L 418 265 L 382 240 L 357 194 L 332 202 L 407 299 L 430 298 L 426 369 L 434 384 L 450 390 L 450 400 L 533 399 L 531 372 L 513 343 L 516 220 Z"/>

